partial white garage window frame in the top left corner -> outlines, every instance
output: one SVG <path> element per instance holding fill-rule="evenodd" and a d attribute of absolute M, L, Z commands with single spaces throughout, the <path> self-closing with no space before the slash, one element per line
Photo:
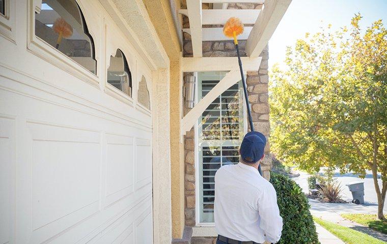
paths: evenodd
<path fill-rule="evenodd" d="M 8 41 L 15 42 L 16 0 L 5 0 L 4 15 L 0 13 L 0 35 Z"/>

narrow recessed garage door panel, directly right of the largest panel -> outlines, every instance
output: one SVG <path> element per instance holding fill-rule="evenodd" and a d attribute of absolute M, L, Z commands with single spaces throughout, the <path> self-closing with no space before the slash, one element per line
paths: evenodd
<path fill-rule="evenodd" d="M 133 137 L 106 134 L 106 205 L 133 192 Z"/>

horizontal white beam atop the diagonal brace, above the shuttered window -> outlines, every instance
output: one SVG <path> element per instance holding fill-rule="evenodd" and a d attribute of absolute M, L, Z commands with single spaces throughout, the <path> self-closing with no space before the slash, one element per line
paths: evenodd
<path fill-rule="evenodd" d="M 243 71 L 257 71 L 262 57 L 241 57 Z M 182 72 L 238 70 L 237 57 L 182 57 Z"/>

